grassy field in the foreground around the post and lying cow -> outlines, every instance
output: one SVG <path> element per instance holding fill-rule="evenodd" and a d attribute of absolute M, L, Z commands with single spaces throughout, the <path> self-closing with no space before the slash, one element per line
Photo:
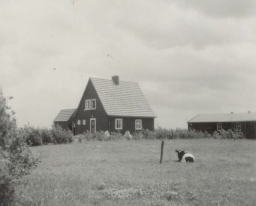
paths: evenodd
<path fill-rule="evenodd" d="M 32 147 L 41 162 L 17 185 L 22 205 L 256 205 L 256 141 L 75 142 Z M 175 149 L 194 163 L 175 162 Z"/>

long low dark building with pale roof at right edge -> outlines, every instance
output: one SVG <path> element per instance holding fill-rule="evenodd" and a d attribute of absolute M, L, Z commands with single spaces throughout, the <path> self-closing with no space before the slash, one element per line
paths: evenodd
<path fill-rule="evenodd" d="M 246 138 L 256 139 L 256 113 L 198 114 L 190 119 L 188 129 L 197 131 L 242 131 Z"/>

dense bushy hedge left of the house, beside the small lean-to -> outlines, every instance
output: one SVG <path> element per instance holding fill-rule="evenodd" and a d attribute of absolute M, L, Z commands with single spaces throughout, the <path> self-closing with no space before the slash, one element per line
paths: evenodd
<path fill-rule="evenodd" d="M 62 129 L 60 126 L 52 126 L 52 128 L 35 128 L 25 125 L 19 129 L 19 134 L 23 136 L 29 146 L 39 146 L 52 144 L 66 144 L 73 142 L 73 134 L 71 131 Z"/>

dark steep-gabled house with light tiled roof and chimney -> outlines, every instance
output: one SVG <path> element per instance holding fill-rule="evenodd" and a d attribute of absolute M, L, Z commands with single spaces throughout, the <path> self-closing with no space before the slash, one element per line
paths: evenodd
<path fill-rule="evenodd" d="M 142 128 L 154 130 L 156 115 L 138 83 L 119 81 L 118 76 L 113 76 L 89 78 L 78 108 L 70 117 L 74 134 L 107 130 L 124 134 Z"/>

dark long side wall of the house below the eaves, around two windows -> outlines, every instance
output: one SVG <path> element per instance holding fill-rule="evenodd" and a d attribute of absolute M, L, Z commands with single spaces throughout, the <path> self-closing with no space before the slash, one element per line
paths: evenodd
<path fill-rule="evenodd" d="M 116 130 L 115 129 L 115 119 L 116 118 L 122 118 L 122 117 L 110 117 L 109 121 L 109 131 L 111 132 L 117 132 L 120 131 L 121 133 L 125 133 L 126 131 L 129 131 L 131 134 L 135 131 L 135 119 L 142 119 L 142 128 L 143 129 L 149 129 L 154 130 L 154 118 L 135 118 L 135 117 L 123 117 L 123 129 L 122 130 Z M 137 130 L 140 131 L 140 130 Z"/>

